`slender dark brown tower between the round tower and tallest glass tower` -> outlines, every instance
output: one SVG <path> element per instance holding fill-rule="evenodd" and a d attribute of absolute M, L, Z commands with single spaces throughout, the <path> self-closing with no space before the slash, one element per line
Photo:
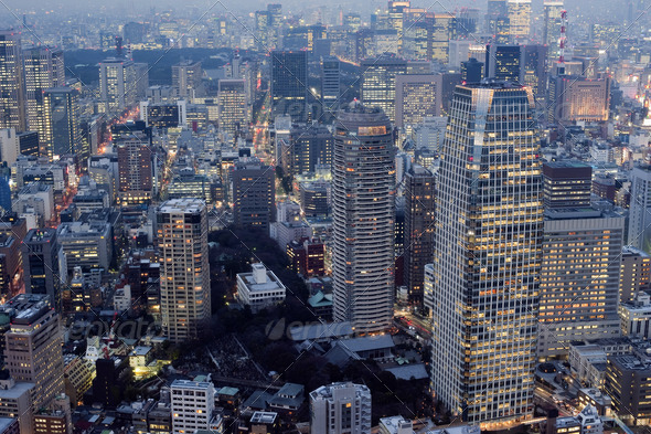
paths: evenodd
<path fill-rule="evenodd" d="M 414 165 L 405 178 L 405 284 L 409 303 L 423 309 L 425 265 L 434 254 L 435 177 Z"/>

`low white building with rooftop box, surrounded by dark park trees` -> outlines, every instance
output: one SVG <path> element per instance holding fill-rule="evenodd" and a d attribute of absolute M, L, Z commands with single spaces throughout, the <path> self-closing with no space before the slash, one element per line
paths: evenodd
<path fill-rule="evenodd" d="M 237 275 L 237 300 L 257 313 L 285 300 L 285 285 L 263 264 L 253 264 L 250 273 Z"/>

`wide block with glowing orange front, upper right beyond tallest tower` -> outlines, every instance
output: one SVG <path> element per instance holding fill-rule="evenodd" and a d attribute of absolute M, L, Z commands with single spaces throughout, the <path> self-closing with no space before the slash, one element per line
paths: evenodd
<path fill-rule="evenodd" d="M 574 75 L 549 77 L 547 120 L 554 124 L 608 120 L 610 78 Z"/>

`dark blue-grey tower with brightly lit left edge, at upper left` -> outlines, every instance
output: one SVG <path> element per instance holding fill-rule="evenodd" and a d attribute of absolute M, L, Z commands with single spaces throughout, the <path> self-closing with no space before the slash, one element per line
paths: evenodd
<path fill-rule="evenodd" d="M 79 131 L 79 93 L 71 87 L 53 87 L 44 91 L 43 123 L 45 137 L 41 155 L 50 161 L 65 155 L 76 155 L 86 166 L 90 149 L 83 148 Z"/>

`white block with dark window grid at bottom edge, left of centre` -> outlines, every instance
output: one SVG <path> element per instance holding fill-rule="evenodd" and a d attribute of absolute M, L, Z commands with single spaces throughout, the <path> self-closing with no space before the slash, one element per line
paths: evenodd
<path fill-rule="evenodd" d="M 215 388 L 207 381 L 174 380 L 170 387 L 174 434 L 210 430 L 215 410 Z"/>

